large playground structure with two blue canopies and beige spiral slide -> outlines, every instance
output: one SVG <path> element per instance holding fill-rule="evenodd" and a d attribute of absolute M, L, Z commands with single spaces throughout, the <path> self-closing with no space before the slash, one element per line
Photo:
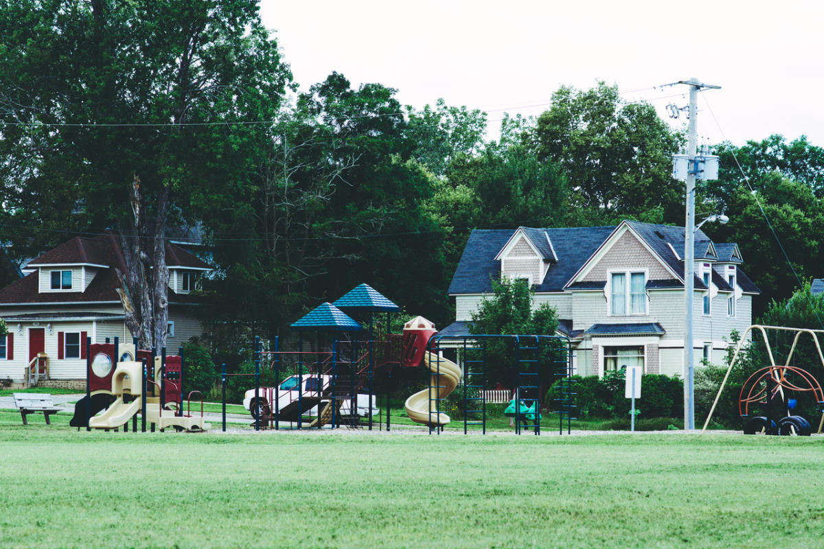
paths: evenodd
<path fill-rule="evenodd" d="M 368 330 L 343 309 L 368 314 Z M 279 337 L 274 349 L 265 351 L 255 338 L 255 388 L 246 392 L 245 405 L 254 418 L 255 429 L 280 429 L 287 421 L 290 428 L 320 428 L 329 425 L 359 426 L 362 418 L 370 430 L 376 408 L 376 389 L 385 392 L 382 405 L 386 411 L 386 430 L 391 430 L 392 375 L 398 368 L 425 366 L 429 372 L 427 388 L 405 400 L 405 412 L 412 421 L 440 433 L 453 421 L 444 401 L 462 387 L 463 424 L 486 432 L 485 361 L 492 342 L 504 342 L 513 353 L 516 370 L 513 416 L 515 430 L 522 427 L 541 433 L 541 396 L 552 381 L 561 380 L 561 398 L 555 412 L 559 415 L 559 432 L 570 431 L 574 419 L 571 347 L 569 339 L 545 335 L 438 335 L 433 323 L 422 317 L 405 324 L 402 334 L 389 333 L 391 313 L 398 308 L 390 300 L 362 284 L 334 304 L 325 303 L 293 323 L 298 333 L 297 348 L 280 349 Z M 386 314 L 383 326 L 375 325 L 375 314 Z M 304 351 L 304 334 L 314 332 L 314 350 Z M 364 334 L 367 332 L 368 334 Z M 333 334 L 326 349 L 321 350 L 321 334 Z M 340 334 L 349 334 L 347 339 Z M 363 338 L 362 335 L 367 335 Z M 451 354 L 464 368 L 446 356 Z M 226 384 L 223 373 L 222 383 Z M 263 378 L 263 379 L 261 379 Z M 291 379 L 291 381 L 290 381 Z M 297 383 L 298 380 L 300 383 Z M 261 383 L 262 381 L 262 383 Z M 367 404 L 363 406 L 363 401 Z M 345 406 L 344 406 L 345 403 Z M 372 403 L 370 406 L 369 403 Z M 358 414 L 358 410 L 367 412 Z M 225 419 L 223 422 L 225 430 Z"/>

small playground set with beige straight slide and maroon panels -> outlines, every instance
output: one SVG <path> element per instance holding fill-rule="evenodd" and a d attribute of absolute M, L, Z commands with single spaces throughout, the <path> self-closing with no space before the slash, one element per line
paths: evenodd
<path fill-rule="evenodd" d="M 189 409 L 191 398 L 199 391 L 189 394 L 187 412 L 183 411 L 183 350 L 177 356 L 166 356 L 166 348 L 156 356 L 154 350 L 120 344 L 119 338 L 110 343 L 92 344 L 86 342 L 87 383 L 86 397 L 75 405 L 70 426 L 91 429 L 112 430 L 123 427 L 138 430 L 138 415 L 141 429 L 147 424 L 152 431 L 157 427 L 165 430 L 206 430 L 201 398 L 200 416 L 193 416 Z M 102 412 L 102 413 L 99 413 Z"/>

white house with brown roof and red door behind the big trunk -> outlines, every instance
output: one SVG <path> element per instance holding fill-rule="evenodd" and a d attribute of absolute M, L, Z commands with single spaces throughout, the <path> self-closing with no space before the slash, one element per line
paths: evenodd
<path fill-rule="evenodd" d="M 207 263 L 175 244 L 166 244 L 169 266 L 169 324 L 166 346 L 171 353 L 190 337 L 204 333 L 186 314 L 190 293 Z M 51 379 L 85 379 L 83 342 L 106 337 L 131 342 L 117 290 L 115 268 L 125 272 L 119 239 L 111 232 L 75 237 L 26 265 L 30 273 L 0 290 L 0 317 L 8 335 L 0 337 L 0 379 L 20 381 L 40 354 L 47 357 Z"/>

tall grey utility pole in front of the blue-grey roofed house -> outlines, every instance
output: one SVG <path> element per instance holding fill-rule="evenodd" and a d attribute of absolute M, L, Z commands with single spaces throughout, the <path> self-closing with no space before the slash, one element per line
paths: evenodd
<path fill-rule="evenodd" d="M 681 80 L 678 84 L 690 86 L 690 133 L 687 141 L 686 174 L 686 221 L 684 222 L 684 307 L 686 309 L 686 330 L 684 334 L 684 429 L 695 429 L 695 390 L 693 386 L 695 368 L 695 336 L 693 329 L 693 301 L 695 293 L 695 174 L 699 162 L 695 159 L 698 151 L 697 101 L 701 89 L 719 89 L 721 86 L 703 84 L 696 78 Z"/>

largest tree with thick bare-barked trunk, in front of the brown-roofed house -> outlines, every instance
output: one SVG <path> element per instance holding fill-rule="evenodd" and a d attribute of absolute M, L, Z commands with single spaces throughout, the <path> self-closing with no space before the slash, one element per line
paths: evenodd
<path fill-rule="evenodd" d="M 166 228 L 233 206 L 265 135 L 248 122 L 290 78 L 253 0 L 6 0 L 3 221 L 34 250 L 115 228 L 127 325 L 160 347 Z"/>

